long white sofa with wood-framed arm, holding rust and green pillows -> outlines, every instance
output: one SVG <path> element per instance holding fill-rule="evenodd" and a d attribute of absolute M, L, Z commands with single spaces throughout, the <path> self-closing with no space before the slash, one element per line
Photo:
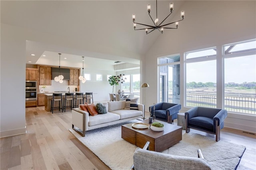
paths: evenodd
<path fill-rule="evenodd" d="M 80 135 L 85 136 L 85 132 L 88 130 L 142 118 L 144 105 L 138 104 L 138 110 L 124 109 L 125 105 L 126 101 L 107 102 L 106 109 L 108 113 L 96 116 L 91 116 L 80 108 L 73 108 L 72 128 Z"/>

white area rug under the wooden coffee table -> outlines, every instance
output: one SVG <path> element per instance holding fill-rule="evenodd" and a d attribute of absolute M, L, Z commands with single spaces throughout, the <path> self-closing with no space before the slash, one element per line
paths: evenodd
<path fill-rule="evenodd" d="M 112 170 L 129 170 L 137 146 L 121 138 L 121 125 L 124 124 L 127 123 L 90 130 L 86 132 L 85 137 L 73 129 L 70 129 L 70 132 Z M 199 148 L 214 170 L 235 170 L 245 150 L 245 146 L 222 140 L 216 142 L 215 138 L 182 130 L 182 140 L 163 153 L 197 157 Z"/>

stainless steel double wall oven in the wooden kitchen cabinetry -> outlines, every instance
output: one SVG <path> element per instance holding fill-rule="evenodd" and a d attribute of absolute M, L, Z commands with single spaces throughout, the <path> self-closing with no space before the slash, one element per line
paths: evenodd
<path fill-rule="evenodd" d="M 37 81 L 26 81 L 26 100 L 37 100 Z"/>

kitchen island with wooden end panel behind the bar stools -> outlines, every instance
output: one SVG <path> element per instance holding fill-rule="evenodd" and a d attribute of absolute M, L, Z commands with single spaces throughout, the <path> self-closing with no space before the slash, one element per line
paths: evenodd
<path fill-rule="evenodd" d="M 52 94 L 53 93 L 45 93 L 44 94 L 44 109 L 47 112 L 51 111 Z M 76 95 L 76 93 L 74 92 L 74 97 L 75 97 L 75 95 Z M 65 93 L 62 93 L 62 105 L 63 105 L 63 108 L 64 108 L 64 102 L 65 102 Z M 74 103 L 75 102 L 76 101 L 74 101 Z M 54 102 L 54 107 L 58 107 L 58 106 L 59 106 L 59 102 Z M 70 101 L 67 101 L 66 107 L 69 107 L 69 106 L 70 106 Z"/>

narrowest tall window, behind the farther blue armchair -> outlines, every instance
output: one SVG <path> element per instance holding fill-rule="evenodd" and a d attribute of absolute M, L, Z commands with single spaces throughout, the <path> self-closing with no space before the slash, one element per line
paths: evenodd
<path fill-rule="evenodd" d="M 159 102 L 180 104 L 180 55 L 158 59 Z"/>

